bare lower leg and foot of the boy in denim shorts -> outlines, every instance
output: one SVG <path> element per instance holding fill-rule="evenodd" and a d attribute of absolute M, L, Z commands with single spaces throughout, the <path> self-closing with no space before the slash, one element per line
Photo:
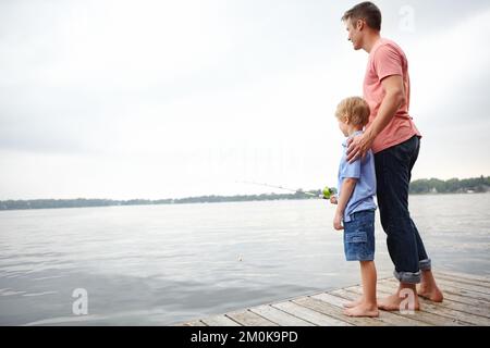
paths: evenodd
<path fill-rule="evenodd" d="M 377 273 L 375 261 L 360 262 L 360 278 L 363 279 L 363 297 L 359 303 L 344 311 L 350 316 L 378 316 L 378 304 L 376 302 Z"/>

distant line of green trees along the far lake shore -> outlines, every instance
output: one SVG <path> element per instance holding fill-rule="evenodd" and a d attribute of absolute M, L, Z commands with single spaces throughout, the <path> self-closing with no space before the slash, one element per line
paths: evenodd
<path fill-rule="evenodd" d="M 441 181 L 438 178 L 418 179 L 411 183 L 411 194 L 467 194 L 487 192 L 490 190 L 490 176 L 474 178 L 452 178 Z M 319 196 L 320 190 L 308 190 L 307 192 Z M 112 206 L 148 206 L 148 204 L 182 204 L 182 203 L 215 203 L 215 202 L 241 202 L 260 200 L 285 200 L 285 199 L 315 199 L 298 190 L 294 194 L 262 194 L 262 195 L 237 195 L 237 196 L 200 196 L 177 199 L 34 199 L 34 200 L 2 200 L 0 210 L 19 209 L 57 209 L 57 208 L 88 208 L 88 207 L 112 207 Z"/>

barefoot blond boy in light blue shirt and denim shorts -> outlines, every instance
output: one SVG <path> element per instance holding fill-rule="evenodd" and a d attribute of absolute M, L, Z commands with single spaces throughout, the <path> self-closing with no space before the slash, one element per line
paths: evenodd
<path fill-rule="evenodd" d="M 359 98 L 342 100 L 335 112 L 339 127 L 347 139 L 343 142 L 342 158 L 339 166 L 339 196 L 331 202 L 338 204 L 333 227 L 344 229 L 344 251 L 347 261 L 360 262 L 363 296 L 345 307 L 350 316 L 378 316 L 376 301 L 375 266 L 375 210 L 376 195 L 375 160 L 371 150 L 364 159 L 354 163 L 346 161 L 347 141 L 362 134 L 369 120 L 369 105 Z M 342 225 L 343 223 L 343 225 Z"/>

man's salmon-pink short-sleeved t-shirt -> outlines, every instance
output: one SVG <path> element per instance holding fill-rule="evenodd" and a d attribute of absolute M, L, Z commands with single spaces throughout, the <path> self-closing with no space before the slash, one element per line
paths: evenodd
<path fill-rule="evenodd" d="M 395 42 L 384 38 L 381 38 L 372 47 L 364 78 L 364 99 L 371 109 L 367 128 L 378 115 L 379 108 L 385 95 L 381 82 L 383 78 L 393 75 L 400 75 L 403 78 L 406 102 L 400 107 L 390 123 L 376 137 L 372 144 L 372 151 L 375 153 L 401 144 L 414 135 L 420 136 L 420 133 L 408 114 L 411 98 L 408 61 L 406 60 L 405 53 Z"/>

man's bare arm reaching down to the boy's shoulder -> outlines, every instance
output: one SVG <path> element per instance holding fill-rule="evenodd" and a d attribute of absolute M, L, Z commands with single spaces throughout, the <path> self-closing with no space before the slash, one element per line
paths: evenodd
<path fill-rule="evenodd" d="M 347 161 L 350 163 L 366 154 L 376 137 L 390 123 L 400 107 L 406 102 L 402 76 L 388 76 L 381 82 L 381 85 L 385 95 L 379 108 L 378 115 L 363 135 L 352 138 L 348 142 Z"/>

